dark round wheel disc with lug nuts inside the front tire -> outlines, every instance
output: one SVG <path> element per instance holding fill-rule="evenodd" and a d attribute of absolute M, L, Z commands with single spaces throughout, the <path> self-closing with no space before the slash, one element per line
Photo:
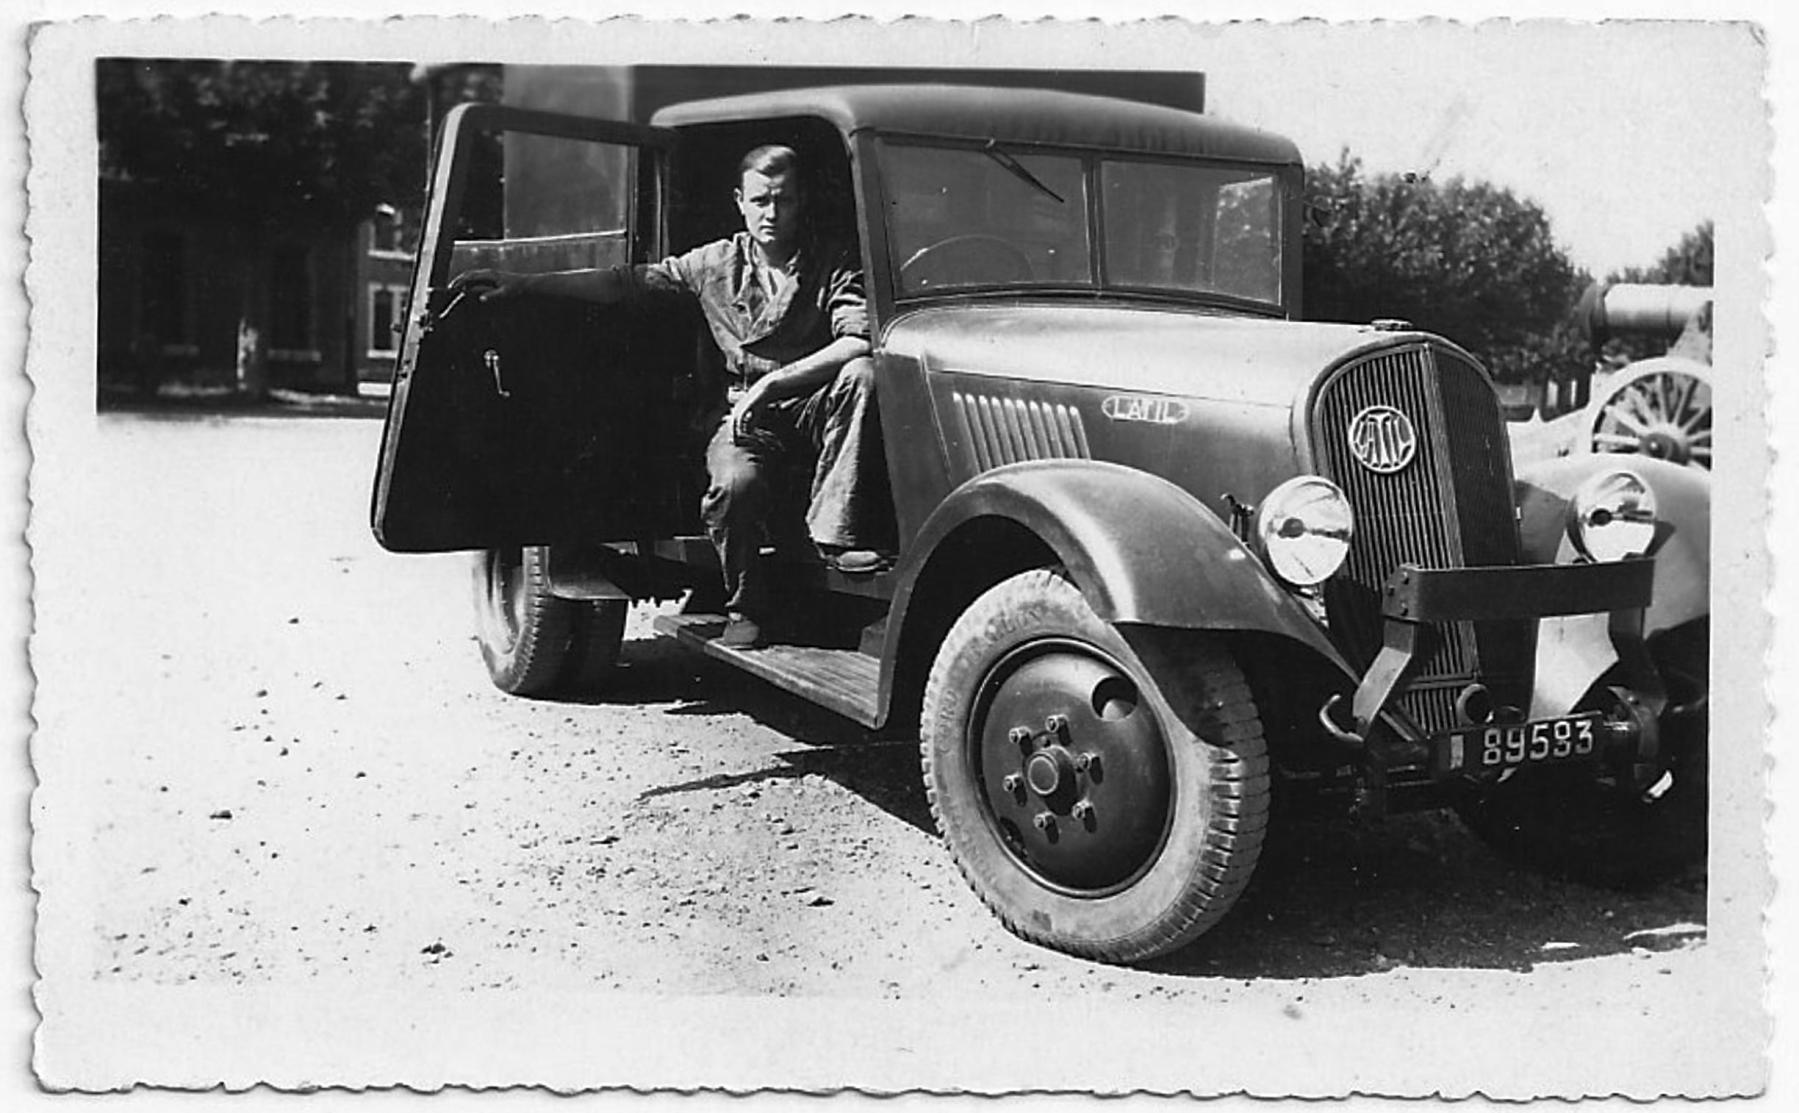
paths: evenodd
<path fill-rule="evenodd" d="M 989 674 L 970 744 L 988 820 L 1052 888 L 1103 895 L 1155 859 L 1173 815 L 1168 746 L 1123 667 L 1034 646 Z"/>

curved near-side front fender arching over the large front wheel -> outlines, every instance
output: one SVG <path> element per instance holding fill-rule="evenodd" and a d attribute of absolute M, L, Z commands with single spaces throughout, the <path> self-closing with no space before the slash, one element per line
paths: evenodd
<path fill-rule="evenodd" d="M 1254 629 L 1353 669 L 1304 608 L 1202 502 L 1155 475 L 1099 460 L 1031 460 L 986 471 L 925 521 L 900 570 L 894 617 L 937 547 L 977 518 L 1036 534 L 1108 622 Z"/>

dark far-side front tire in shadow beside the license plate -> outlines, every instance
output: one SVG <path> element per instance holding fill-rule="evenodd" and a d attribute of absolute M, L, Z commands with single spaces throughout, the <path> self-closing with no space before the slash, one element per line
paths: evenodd
<path fill-rule="evenodd" d="M 1650 646 L 1669 696 L 1660 721 L 1673 777 L 1666 793 L 1646 800 L 1587 777 L 1527 770 L 1459 804 L 1463 824 L 1504 858 L 1601 888 L 1650 888 L 1702 865 L 1709 626 L 1691 622 Z"/>

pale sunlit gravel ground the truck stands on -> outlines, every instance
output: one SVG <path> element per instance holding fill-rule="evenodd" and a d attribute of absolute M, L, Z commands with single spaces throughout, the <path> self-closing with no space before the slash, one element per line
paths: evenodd
<path fill-rule="evenodd" d="M 36 649 L 79 662 L 43 671 L 36 750 L 45 924 L 79 924 L 45 957 L 61 976 L 1173 1003 L 1295 1030 L 1364 1005 L 1695 1012 L 1702 874 L 1547 881 L 1439 815 L 1284 833 L 1223 926 L 1146 967 L 1015 940 L 930 829 L 916 743 L 653 640 L 646 608 L 604 703 L 495 690 L 468 557 L 369 534 L 378 435 L 99 421 L 81 514 L 108 527 L 40 570 Z"/>

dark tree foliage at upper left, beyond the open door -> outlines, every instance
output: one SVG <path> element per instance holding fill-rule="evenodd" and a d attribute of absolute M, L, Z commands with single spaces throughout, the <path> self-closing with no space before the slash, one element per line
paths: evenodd
<path fill-rule="evenodd" d="M 426 90 L 407 63 L 95 67 L 103 178 L 268 223 L 354 223 L 425 192 Z"/>

